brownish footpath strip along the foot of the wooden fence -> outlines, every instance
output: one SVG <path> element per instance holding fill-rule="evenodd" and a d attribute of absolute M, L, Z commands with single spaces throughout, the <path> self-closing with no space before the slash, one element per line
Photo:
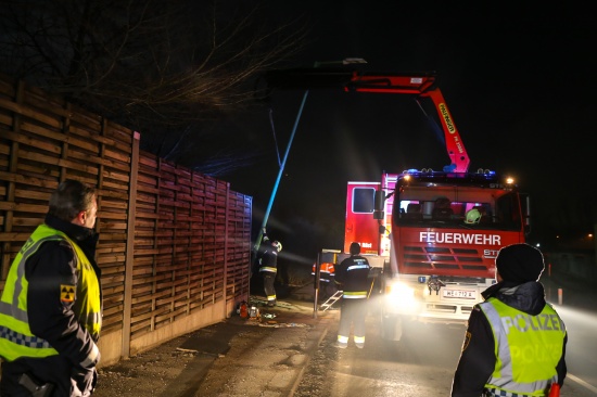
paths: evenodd
<path fill-rule="evenodd" d="M 115 366 L 100 368 L 98 397 L 292 396 L 336 312 L 283 300 L 261 319 L 233 316 Z"/>

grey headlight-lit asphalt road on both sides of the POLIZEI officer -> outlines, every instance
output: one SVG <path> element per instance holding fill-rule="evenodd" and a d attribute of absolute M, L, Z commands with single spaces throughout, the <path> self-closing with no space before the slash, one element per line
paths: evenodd
<path fill-rule="evenodd" d="M 571 340 L 567 355 L 569 376 L 561 397 L 596 396 L 595 356 L 597 341 L 593 322 L 571 321 Z M 298 384 L 295 396 L 449 396 L 452 377 L 458 361 L 465 326 L 457 324 L 414 323 L 399 343 L 384 343 L 379 337 L 374 317 L 368 317 L 366 348 L 346 350 L 334 347 L 332 325 Z M 581 319 L 580 319 L 581 320 Z M 586 319 L 585 319 L 586 320 Z M 577 326 L 587 340 L 581 340 Z"/>

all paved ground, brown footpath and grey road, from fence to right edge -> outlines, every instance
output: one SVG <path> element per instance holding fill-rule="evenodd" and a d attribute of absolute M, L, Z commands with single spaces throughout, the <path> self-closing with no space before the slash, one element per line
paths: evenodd
<path fill-rule="evenodd" d="M 595 294 L 554 280 L 544 284 L 569 329 L 569 377 L 561 396 L 595 396 Z M 312 298 L 313 290 L 295 291 L 275 309 L 262 307 L 261 321 L 233 316 L 102 368 L 96 396 L 449 395 L 463 325 L 411 324 L 403 341 L 384 343 L 371 311 L 365 349 L 341 350 L 334 347 L 338 311 L 315 316 Z"/>

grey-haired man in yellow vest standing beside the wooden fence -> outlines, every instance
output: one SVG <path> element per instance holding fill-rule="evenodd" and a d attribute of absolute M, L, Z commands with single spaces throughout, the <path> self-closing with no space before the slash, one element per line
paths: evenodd
<path fill-rule="evenodd" d="M 16 255 L 0 299 L 0 395 L 90 396 L 101 330 L 96 191 L 65 180 Z"/>

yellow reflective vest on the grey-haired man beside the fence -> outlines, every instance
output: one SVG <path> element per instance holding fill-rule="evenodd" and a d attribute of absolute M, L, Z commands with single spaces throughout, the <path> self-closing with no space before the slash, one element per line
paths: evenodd
<path fill-rule="evenodd" d="M 102 326 L 100 282 L 89 259 L 66 234 L 40 225 L 29 240 L 23 245 L 11 265 L 4 291 L 0 298 L 0 356 L 8 361 L 20 357 L 49 357 L 58 351 L 48 341 L 31 333 L 27 315 L 27 291 L 29 283 L 25 277 L 25 262 L 35 254 L 42 243 L 48 241 L 66 241 L 74 249 L 77 259 L 77 291 L 62 291 L 65 298 L 76 300 L 73 310 L 80 324 L 98 341 Z M 64 286 L 65 290 L 68 289 Z M 71 294 L 71 295 L 68 295 Z M 55 303 L 49 303 L 54 305 Z M 90 358 L 91 359 L 91 358 Z"/>

